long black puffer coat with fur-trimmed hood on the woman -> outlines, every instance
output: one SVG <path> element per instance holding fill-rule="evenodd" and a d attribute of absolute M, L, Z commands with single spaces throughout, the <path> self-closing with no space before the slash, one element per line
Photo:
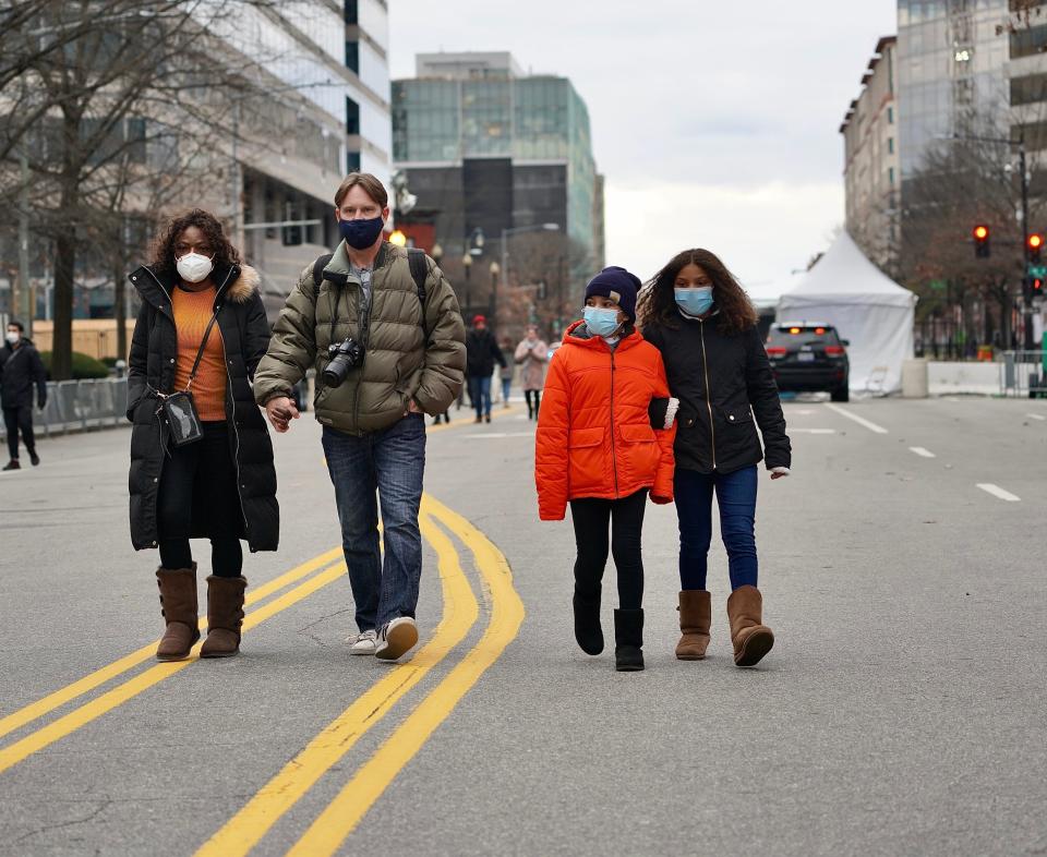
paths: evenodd
<path fill-rule="evenodd" d="M 254 268 L 216 268 L 217 327 L 226 352 L 226 422 L 230 455 L 237 467 L 237 488 L 243 518 L 241 538 L 252 551 L 275 551 L 280 514 L 276 502 L 273 443 L 265 418 L 254 403 L 251 379 L 269 343 L 269 325 L 258 293 Z M 131 541 L 135 550 L 157 546 L 157 494 L 164 469 L 168 428 L 157 417 L 158 400 L 149 389 L 174 391 L 178 336 L 171 310 L 173 278 L 158 277 L 152 268 L 131 274 L 142 295 L 134 325 L 128 373 L 128 419 L 131 432 Z M 206 522 L 193 521 L 192 535 L 206 535 Z"/>

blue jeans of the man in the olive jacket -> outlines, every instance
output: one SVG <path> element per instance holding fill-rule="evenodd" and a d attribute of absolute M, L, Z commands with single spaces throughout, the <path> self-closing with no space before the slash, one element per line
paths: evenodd
<path fill-rule="evenodd" d="M 418 510 L 425 470 L 425 419 L 412 413 L 362 437 L 325 426 L 323 443 L 357 625 L 365 631 L 399 616 L 413 618 L 422 577 Z M 378 552 L 378 504 L 385 531 L 384 565 Z"/>

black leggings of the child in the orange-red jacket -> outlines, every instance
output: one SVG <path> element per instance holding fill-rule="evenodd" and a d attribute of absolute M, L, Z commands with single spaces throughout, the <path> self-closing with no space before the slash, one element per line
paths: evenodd
<path fill-rule="evenodd" d="M 618 572 L 618 606 L 639 609 L 643 603 L 643 558 L 640 553 L 647 488 L 617 500 L 583 498 L 570 502 L 575 524 L 575 589 L 586 599 L 600 598 L 607 564 L 607 524 L 611 553 Z"/>

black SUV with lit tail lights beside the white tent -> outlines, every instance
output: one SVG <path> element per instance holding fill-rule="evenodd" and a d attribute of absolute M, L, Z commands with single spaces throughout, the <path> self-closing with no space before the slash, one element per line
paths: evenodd
<path fill-rule="evenodd" d="M 851 363 L 846 339 L 828 324 L 774 324 L 767 335 L 767 357 L 779 390 L 827 390 L 833 401 L 847 401 Z"/>

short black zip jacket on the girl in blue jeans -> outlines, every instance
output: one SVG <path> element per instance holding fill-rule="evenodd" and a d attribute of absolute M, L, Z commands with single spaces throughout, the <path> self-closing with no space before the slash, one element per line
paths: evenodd
<path fill-rule="evenodd" d="M 756 464 L 763 458 L 757 425 L 768 470 L 790 467 L 778 385 L 755 327 L 729 335 L 717 315 L 705 321 L 681 316 L 676 327 L 649 325 L 643 338 L 662 352 L 669 388 L 679 399 L 677 468 L 731 473 Z"/>

